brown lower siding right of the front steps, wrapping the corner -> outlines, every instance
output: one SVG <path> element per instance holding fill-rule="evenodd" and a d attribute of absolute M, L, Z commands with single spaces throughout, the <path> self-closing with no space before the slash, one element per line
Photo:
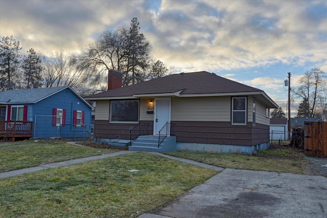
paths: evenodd
<path fill-rule="evenodd" d="M 190 143 L 254 146 L 269 142 L 269 126 L 252 123 L 233 126 L 230 122 L 180 122 L 175 124 L 176 141 Z"/>

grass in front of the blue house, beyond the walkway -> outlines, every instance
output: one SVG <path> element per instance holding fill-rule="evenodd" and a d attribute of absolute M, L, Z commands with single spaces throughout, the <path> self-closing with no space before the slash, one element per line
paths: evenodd
<path fill-rule="evenodd" d="M 78 147 L 66 142 L 63 139 L 1 142 L 0 172 L 116 151 Z"/>

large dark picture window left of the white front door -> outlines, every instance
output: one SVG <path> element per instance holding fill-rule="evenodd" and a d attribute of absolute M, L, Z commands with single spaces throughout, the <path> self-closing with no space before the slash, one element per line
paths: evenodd
<path fill-rule="evenodd" d="M 138 100 L 110 101 L 110 123 L 138 123 Z"/>

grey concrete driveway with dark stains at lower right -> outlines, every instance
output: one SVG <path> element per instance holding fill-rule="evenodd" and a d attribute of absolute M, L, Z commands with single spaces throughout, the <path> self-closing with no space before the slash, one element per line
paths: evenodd
<path fill-rule="evenodd" d="M 226 168 L 141 218 L 327 217 L 327 178 Z"/>

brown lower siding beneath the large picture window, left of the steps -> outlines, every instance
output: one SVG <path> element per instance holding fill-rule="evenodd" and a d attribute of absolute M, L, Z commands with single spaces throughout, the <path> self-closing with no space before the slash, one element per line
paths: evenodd
<path fill-rule="evenodd" d="M 149 134 L 153 134 L 153 121 L 149 123 Z M 94 138 L 108 139 L 129 139 L 129 129 L 137 126 L 137 124 L 110 124 L 109 120 L 95 120 Z"/>

